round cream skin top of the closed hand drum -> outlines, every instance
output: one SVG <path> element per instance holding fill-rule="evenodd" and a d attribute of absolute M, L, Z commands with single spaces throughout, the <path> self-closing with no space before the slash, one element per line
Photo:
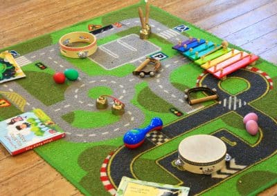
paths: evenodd
<path fill-rule="evenodd" d="M 211 163 L 226 155 L 224 142 L 212 135 L 193 135 L 179 144 L 179 156 L 194 163 Z"/>

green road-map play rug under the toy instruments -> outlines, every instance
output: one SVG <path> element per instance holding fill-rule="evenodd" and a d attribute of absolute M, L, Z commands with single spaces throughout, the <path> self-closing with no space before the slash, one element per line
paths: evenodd
<path fill-rule="evenodd" d="M 55 119 L 66 138 L 35 151 L 87 195 L 116 193 L 123 176 L 190 187 L 191 195 L 248 195 L 275 184 L 277 67 L 258 59 L 256 65 L 238 68 L 240 59 L 249 62 L 256 56 L 231 43 L 226 48 L 221 39 L 153 6 L 148 21 L 152 33 L 140 39 L 139 6 L 145 10 L 141 2 L 1 50 L 20 54 L 15 60 L 26 77 L 1 84 L 0 120 L 33 108 Z M 59 39 L 70 32 L 89 32 L 88 26 L 97 30 L 96 52 L 79 52 L 77 58 L 61 55 Z M 90 41 L 83 35 L 78 39 Z M 218 57 L 240 55 L 233 61 L 234 72 L 225 75 L 222 59 L 200 58 L 205 56 L 202 51 L 214 48 L 221 51 L 213 53 Z M 152 77 L 132 75 L 145 57 L 159 59 L 161 68 Z M 199 66 L 202 63 L 206 66 Z M 53 75 L 66 69 L 77 70 L 78 79 L 56 84 Z M 215 77 L 217 72 L 222 80 Z M 215 89 L 218 98 L 190 106 L 184 90 L 205 85 Z M 196 99 L 206 96 L 196 94 Z M 100 95 L 104 99 L 99 100 Z M 247 133 L 242 121 L 249 112 L 258 115 L 255 136 Z M 153 117 L 162 119 L 163 128 L 146 135 L 140 147 L 126 148 L 127 130 L 144 128 Z M 195 174 L 176 164 L 180 142 L 199 134 L 226 144 L 231 158 L 217 172 L 201 166 L 210 174 Z"/>

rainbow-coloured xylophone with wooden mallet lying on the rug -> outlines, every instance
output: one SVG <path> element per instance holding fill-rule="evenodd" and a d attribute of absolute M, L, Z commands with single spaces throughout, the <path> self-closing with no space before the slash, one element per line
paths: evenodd
<path fill-rule="evenodd" d="M 188 59 L 193 60 L 218 79 L 226 79 L 226 75 L 235 72 L 240 68 L 254 65 L 258 56 L 244 51 L 228 48 L 228 42 L 222 41 L 221 45 L 190 37 L 186 41 L 172 47 Z"/>

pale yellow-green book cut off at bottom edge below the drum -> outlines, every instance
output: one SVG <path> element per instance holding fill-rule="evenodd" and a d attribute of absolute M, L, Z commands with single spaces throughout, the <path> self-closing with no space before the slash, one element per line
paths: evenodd
<path fill-rule="evenodd" d="M 154 182 L 145 182 L 123 176 L 116 196 L 186 196 L 190 188 Z"/>

